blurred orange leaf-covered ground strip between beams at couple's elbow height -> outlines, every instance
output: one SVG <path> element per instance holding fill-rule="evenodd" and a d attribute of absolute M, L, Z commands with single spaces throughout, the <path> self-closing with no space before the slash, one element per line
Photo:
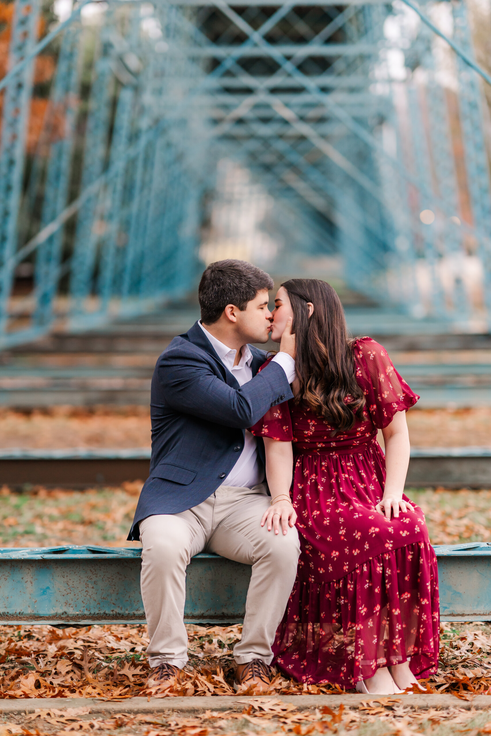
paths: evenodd
<path fill-rule="evenodd" d="M 150 416 L 145 406 L 99 408 L 54 406 L 44 410 L 0 408 L 0 447 L 149 447 Z M 491 447 L 491 407 L 411 409 L 407 414 L 414 447 Z"/>

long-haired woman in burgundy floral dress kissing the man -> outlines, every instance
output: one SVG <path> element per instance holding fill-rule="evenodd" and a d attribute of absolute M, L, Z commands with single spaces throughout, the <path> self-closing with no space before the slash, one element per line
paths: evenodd
<path fill-rule="evenodd" d="M 289 319 L 295 398 L 252 428 L 265 439 L 272 495 L 262 523 L 285 533 L 297 517 L 302 548 L 275 664 L 300 682 L 398 693 L 434 673 L 439 652 L 437 561 L 423 512 L 403 495 L 406 411 L 419 397 L 381 345 L 347 339 L 328 283 L 283 283 L 275 342 Z"/>

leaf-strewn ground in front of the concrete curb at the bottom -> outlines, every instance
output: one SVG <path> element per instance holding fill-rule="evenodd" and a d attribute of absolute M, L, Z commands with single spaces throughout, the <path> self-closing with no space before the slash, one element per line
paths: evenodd
<path fill-rule="evenodd" d="M 358 708 L 340 706 L 332 710 L 299 710 L 294 704 L 278 700 L 266 701 L 253 698 L 247 707 L 217 712 L 206 710 L 196 715 L 169 710 L 164 713 L 122 713 L 113 718 L 91 715 L 90 708 L 67 710 L 39 709 L 29 715 L 0 716 L 1 736 L 74 736 L 74 732 L 92 733 L 98 736 L 254 736 L 255 734 L 284 736 L 295 734 L 350 732 L 360 736 L 450 736 L 464 733 L 480 736 L 491 733 L 489 711 L 464 710 L 456 707 L 447 710 L 413 710 L 402 698 L 378 698 L 365 702 Z"/>

